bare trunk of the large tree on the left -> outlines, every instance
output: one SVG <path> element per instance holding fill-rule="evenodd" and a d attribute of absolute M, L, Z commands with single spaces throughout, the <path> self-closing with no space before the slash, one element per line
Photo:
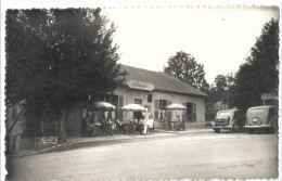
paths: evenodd
<path fill-rule="evenodd" d="M 66 142 L 66 108 L 60 109 L 57 121 L 57 141 Z"/>

